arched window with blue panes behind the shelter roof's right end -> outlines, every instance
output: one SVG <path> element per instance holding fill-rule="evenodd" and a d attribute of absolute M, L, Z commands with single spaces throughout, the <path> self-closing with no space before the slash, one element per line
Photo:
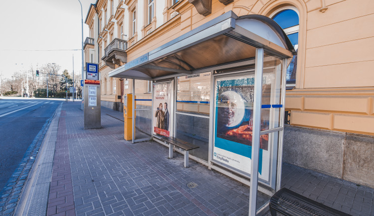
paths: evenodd
<path fill-rule="evenodd" d="M 287 34 L 296 52 L 299 44 L 299 13 L 296 7 L 282 7 L 270 16 L 276 21 L 283 31 Z M 293 56 L 290 65 L 287 68 L 287 86 L 295 86 L 296 83 L 297 54 Z"/>

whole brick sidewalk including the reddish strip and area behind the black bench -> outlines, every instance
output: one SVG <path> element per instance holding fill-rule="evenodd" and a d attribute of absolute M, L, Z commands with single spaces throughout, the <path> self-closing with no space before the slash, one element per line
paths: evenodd
<path fill-rule="evenodd" d="M 249 187 L 192 160 L 184 168 L 183 155 L 168 159 L 168 148 L 156 142 L 125 141 L 123 113 L 101 110 L 102 128 L 84 130 L 80 104 L 63 104 L 48 216 L 248 215 Z M 371 188 L 289 164 L 282 186 L 352 215 L 374 216 Z M 269 200 L 258 195 L 258 207 Z"/>

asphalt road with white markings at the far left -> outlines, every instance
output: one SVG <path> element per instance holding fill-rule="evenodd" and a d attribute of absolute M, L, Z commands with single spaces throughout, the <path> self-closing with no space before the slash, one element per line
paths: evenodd
<path fill-rule="evenodd" d="M 0 191 L 61 101 L 0 99 Z"/>

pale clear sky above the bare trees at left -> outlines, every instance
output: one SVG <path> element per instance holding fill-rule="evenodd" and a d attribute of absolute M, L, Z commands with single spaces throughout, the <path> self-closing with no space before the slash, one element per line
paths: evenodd
<path fill-rule="evenodd" d="M 96 0 L 81 0 L 81 2 L 84 41 L 89 36 L 88 26 L 84 21 L 90 4 L 96 3 Z M 78 0 L 1 2 L 0 74 L 2 78 L 11 78 L 14 72 L 28 70 L 31 65 L 36 71 L 36 68 L 40 69 L 47 63 L 56 63 L 61 66 L 60 72 L 66 69 L 72 74 L 73 55 L 74 75 L 81 74 L 81 26 L 81 7 Z"/>

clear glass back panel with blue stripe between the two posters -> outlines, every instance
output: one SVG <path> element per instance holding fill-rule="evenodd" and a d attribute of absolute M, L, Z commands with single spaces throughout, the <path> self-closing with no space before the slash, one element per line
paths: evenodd
<path fill-rule="evenodd" d="M 189 154 L 208 161 L 210 72 L 178 77 L 176 136 L 199 146 Z"/>

